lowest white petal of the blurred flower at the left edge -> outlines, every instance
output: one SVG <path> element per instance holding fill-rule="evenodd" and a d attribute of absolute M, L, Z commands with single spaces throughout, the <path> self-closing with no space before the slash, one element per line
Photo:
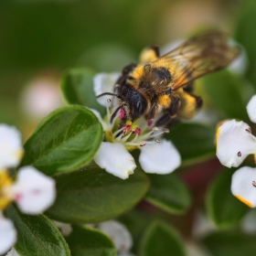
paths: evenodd
<path fill-rule="evenodd" d="M 10 219 L 0 214 L 0 254 L 8 251 L 16 243 L 16 229 Z"/>

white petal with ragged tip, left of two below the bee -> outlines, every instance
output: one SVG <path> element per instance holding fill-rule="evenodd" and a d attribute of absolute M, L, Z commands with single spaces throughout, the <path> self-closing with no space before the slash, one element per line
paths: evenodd
<path fill-rule="evenodd" d="M 133 156 L 120 143 L 101 143 L 94 161 L 108 173 L 123 179 L 136 168 Z"/>

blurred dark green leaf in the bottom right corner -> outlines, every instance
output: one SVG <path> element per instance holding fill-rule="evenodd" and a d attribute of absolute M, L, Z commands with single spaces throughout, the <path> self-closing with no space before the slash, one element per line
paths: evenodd
<path fill-rule="evenodd" d="M 216 232 L 208 235 L 201 242 L 212 256 L 245 256 L 254 255 L 256 251 L 256 235 L 240 232 Z"/>

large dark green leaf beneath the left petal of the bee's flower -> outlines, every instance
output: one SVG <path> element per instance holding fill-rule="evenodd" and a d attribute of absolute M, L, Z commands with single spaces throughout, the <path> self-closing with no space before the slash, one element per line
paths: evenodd
<path fill-rule="evenodd" d="M 52 219 L 70 223 L 95 223 L 112 219 L 133 208 L 149 187 L 149 181 L 136 168 L 123 180 L 97 165 L 56 176 L 57 199 L 48 209 Z"/>

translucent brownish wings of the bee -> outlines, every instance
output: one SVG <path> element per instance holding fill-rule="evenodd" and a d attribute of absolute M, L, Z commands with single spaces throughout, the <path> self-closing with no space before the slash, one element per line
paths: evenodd
<path fill-rule="evenodd" d="M 172 89 L 176 91 L 189 81 L 227 67 L 240 53 L 240 49 L 230 43 L 225 33 L 209 31 L 191 37 L 156 61 L 168 63 L 174 74 Z"/>

